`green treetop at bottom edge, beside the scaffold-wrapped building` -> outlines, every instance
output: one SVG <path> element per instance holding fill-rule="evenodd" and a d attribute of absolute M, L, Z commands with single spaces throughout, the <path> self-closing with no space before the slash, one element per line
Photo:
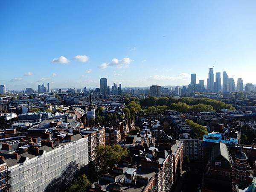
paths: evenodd
<path fill-rule="evenodd" d="M 87 192 L 91 184 L 90 180 L 83 174 L 67 188 L 67 192 Z"/>

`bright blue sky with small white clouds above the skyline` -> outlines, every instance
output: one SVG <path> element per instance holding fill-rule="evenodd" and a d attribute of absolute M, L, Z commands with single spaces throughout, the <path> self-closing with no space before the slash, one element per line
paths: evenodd
<path fill-rule="evenodd" d="M 256 83 L 256 1 L 0 1 L 9 90 L 184 85 L 215 72 Z M 235 80 L 236 81 L 236 80 Z"/>

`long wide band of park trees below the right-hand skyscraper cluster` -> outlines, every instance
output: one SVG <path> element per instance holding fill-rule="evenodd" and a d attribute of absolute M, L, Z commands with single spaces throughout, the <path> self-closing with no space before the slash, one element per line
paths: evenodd
<path fill-rule="evenodd" d="M 135 101 L 134 101 L 135 102 Z M 228 109 L 228 110 L 234 110 L 235 108 L 232 105 L 226 104 L 224 102 L 215 100 L 215 99 L 209 99 L 209 98 L 192 98 L 192 97 L 160 97 L 159 99 L 157 97 L 148 97 L 145 99 L 141 99 L 140 101 L 140 106 L 142 108 L 148 108 L 151 106 L 168 106 L 175 108 L 175 105 L 172 104 L 177 104 L 177 103 L 183 103 L 186 105 L 193 106 L 195 105 L 191 110 L 196 111 L 198 108 L 203 108 L 205 110 L 212 109 L 215 111 L 221 111 L 221 109 Z M 202 104 L 202 105 L 199 105 Z M 205 106 L 207 105 L 207 106 Z M 212 108 L 209 108 L 209 105 L 212 106 Z M 185 106 L 186 108 L 187 106 Z"/>

